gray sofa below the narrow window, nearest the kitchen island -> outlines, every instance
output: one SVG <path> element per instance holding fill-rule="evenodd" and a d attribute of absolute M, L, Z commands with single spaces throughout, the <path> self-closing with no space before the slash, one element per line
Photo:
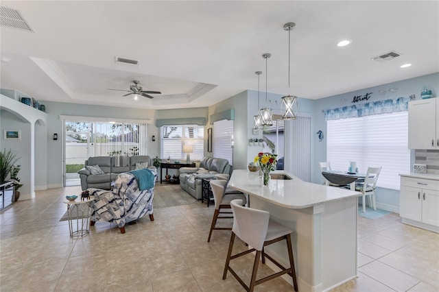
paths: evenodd
<path fill-rule="evenodd" d="M 228 160 L 204 157 L 200 161 L 200 167 L 180 168 L 180 186 L 195 199 L 201 199 L 202 179 L 215 178 L 217 173 L 232 173 L 232 167 L 228 164 Z"/>

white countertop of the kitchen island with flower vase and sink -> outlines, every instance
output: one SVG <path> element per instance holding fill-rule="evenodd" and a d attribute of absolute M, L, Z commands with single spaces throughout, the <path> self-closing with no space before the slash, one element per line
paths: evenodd
<path fill-rule="evenodd" d="M 290 209 L 308 208 L 361 195 L 346 188 L 304 182 L 287 171 L 272 171 L 272 173 L 287 175 L 292 180 L 270 179 L 270 184 L 263 186 L 258 171 L 237 169 L 233 171 L 228 186 Z"/>

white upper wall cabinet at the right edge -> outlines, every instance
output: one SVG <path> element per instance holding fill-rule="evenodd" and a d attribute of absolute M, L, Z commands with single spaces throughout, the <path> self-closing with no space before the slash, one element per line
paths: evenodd
<path fill-rule="evenodd" d="M 409 148 L 439 149 L 439 101 L 409 102 Z"/>

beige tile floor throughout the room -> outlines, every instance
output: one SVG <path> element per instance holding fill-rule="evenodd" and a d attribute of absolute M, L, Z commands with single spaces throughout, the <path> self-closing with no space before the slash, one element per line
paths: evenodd
<path fill-rule="evenodd" d="M 0 213 L 0 291 L 244 291 L 230 273 L 222 280 L 230 232 L 215 230 L 206 243 L 213 206 L 156 208 L 155 221 L 146 216 L 126 234 L 98 222 L 71 239 L 67 221 L 59 221 L 62 200 L 79 192 L 38 191 Z M 235 251 L 245 248 L 235 242 Z M 235 263 L 247 281 L 251 260 Z M 439 234 L 402 224 L 396 214 L 359 217 L 358 262 L 359 278 L 333 291 L 439 291 Z M 293 289 L 277 278 L 255 291 Z"/>

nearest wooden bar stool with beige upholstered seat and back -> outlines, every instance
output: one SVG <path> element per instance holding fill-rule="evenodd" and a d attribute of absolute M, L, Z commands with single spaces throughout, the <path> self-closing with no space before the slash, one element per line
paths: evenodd
<path fill-rule="evenodd" d="M 254 287 L 258 284 L 272 280 L 278 276 L 282 276 L 287 273 L 293 278 L 294 291 L 298 291 L 297 279 L 296 279 L 296 269 L 294 269 L 294 258 L 293 250 L 291 245 L 291 233 L 293 230 L 270 220 L 270 213 L 263 210 L 257 210 L 252 208 L 245 208 L 241 206 L 242 202 L 239 199 L 235 199 L 230 202 L 230 206 L 233 211 L 233 221 L 232 235 L 230 236 L 230 244 L 228 245 L 226 265 L 224 267 L 224 273 L 222 279 L 225 280 L 227 272 L 230 271 L 238 282 L 246 289 L 246 291 L 253 291 Z M 251 250 L 246 250 L 239 254 L 232 256 L 233 242 L 235 241 L 235 236 L 239 239 L 253 247 Z M 264 253 L 263 247 L 276 243 L 285 239 L 287 241 L 288 256 L 289 256 L 289 268 L 283 267 L 271 256 Z M 252 277 L 250 279 L 250 285 L 247 286 L 244 281 L 239 278 L 237 273 L 233 271 L 230 267 L 230 260 L 238 258 L 239 256 L 244 256 L 250 252 L 256 251 L 256 257 L 254 258 Z M 270 276 L 256 280 L 259 258 L 262 256 L 262 263 L 265 264 L 265 257 L 271 260 L 276 266 L 278 266 L 281 271 L 273 273 Z"/>

